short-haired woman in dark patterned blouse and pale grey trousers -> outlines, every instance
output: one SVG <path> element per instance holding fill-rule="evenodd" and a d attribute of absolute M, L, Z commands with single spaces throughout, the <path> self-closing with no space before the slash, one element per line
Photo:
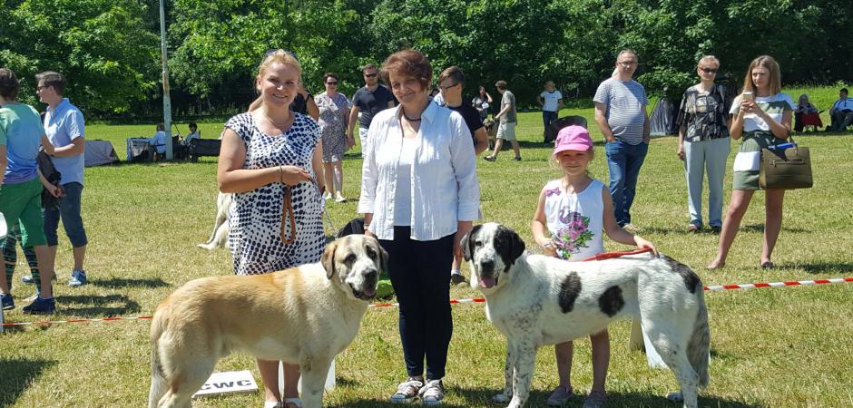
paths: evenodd
<path fill-rule="evenodd" d="M 729 98 L 726 87 L 714 83 L 720 60 L 701 57 L 696 65 L 700 83 L 684 91 L 678 112 L 678 158 L 684 161 L 687 177 L 688 232 L 702 228 L 702 179 L 708 170 L 708 224 L 722 228 L 722 179 L 729 157 Z"/>

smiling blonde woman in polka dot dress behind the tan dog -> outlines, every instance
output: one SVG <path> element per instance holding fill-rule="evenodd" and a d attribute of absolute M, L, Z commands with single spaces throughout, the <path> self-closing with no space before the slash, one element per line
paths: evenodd
<path fill-rule="evenodd" d="M 228 248 L 237 275 L 318 262 L 326 247 L 320 217 L 324 186 L 319 126 L 289 109 L 299 92 L 301 72 L 291 54 L 268 53 L 255 78 L 260 106 L 230 118 L 222 131 L 217 180 L 221 192 L 234 193 Z M 284 364 L 283 401 L 279 362 L 259 359 L 258 369 L 266 408 L 301 406 L 298 365 Z"/>

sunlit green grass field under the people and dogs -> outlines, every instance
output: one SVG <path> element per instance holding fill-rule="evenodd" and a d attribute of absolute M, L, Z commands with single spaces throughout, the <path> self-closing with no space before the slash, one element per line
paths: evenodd
<path fill-rule="evenodd" d="M 831 100 L 834 89 L 809 90 Z M 796 94 L 794 94 L 796 93 Z M 796 98 L 798 91 L 791 94 Z M 812 97 L 815 100 L 815 97 Z M 583 114 L 592 110 L 564 111 Z M 827 118 L 824 118 L 827 119 Z M 123 157 L 124 139 L 150 135 L 153 125 L 87 127 L 89 139 L 113 141 Z M 221 123 L 201 123 L 202 135 L 214 137 Z M 593 140 L 601 141 L 594 129 Z M 520 115 L 518 127 L 524 161 L 504 152 L 495 163 L 478 160 L 485 220 L 519 231 L 531 245 L 529 230 L 535 201 L 547 180 L 559 176 L 547 163 L 550 149 L 541 140 L 538 113 Z M 775 282 L 853 276 L 853 134 L 806 134 L 799 144 L 812 154 L 815 187 L 786 195 L 785 217 L 774 261 L 758 267 L 763 224 L 763 194 L 748 211 L 728 267 L 706 271 L 717 237 L 690 235 L 686 186 L 674 137 L 652 141 L 641 171 L 632 213 L 640 234 L 662 252 L 691 265 L 705 285 Z M 733 142 L 733 149 L 737 142 Z M 607 179 L 601 145 L 593 175 Z M 734 154 L 730 155 L 730 160 Z M 345 195 L 358 196 L 360 157 L 345 160 Z M 176 287 L 197 277 L 231 273 L 225 249 L 205 251 L 195 244 L 210 234 L 215 210 L 216 162 L 127 164 L 86 169 L 83 218 L 90 237 L 86 269 L 90 284 L 62 285 L 70 274 L 71 250 L 61 239 L 56 287 L 57 313 L 50 318 L 150 315 Z M 730 169 L 730 167 L 729 167 Z M 730 176 L 726 180 L 726 197 Z M 331 203 L 338 227 L 356 217 L 356 203 Z M 625 247 L 605 242 L 609 250 Z M 13 294 L 18 308 L 6 313 L 13 322 L 41 317 L 21 313 L 33 287 L 20 284 L 19 262 Z M 467 274 L 467 272 L 466 272 Z M 454 298 L 480 296 L 453 287 Z M 701 406 L 843 407 L 853 406 L 853 287 L 767 288 L 706 294 L 711 314 L 711 386 Z M 455 333 L 445 378 L 446 405 L 491 407 L 503 386 L 505 339 L 486 320 L 481 305 L 454 306 Z M 8 328 L 0 335 L 0 406 L 114 407 L 146 403 L 150 379 L 148 321 L 63 324 Z M 629 352 L 627 322 L 612 326 L 613 356 L 608 377 L 608 406 L 670 407 L 663 396 L 676 387 L 669 371 L 651 370 L 643 355 Z M 586 393 L 592 382 L 589 343 L 576 347 L 573 383 Z M 248 355 L 231 355 L 219 371 L 250 369 Z M 405 376 L 397 335 L 397 309 L 368 310 L 355 342 L 337 359 L 338 386 L 325 402 L 335 407 L 387 407 L 387 396 Z M 556 384 L 553 351 L 539 354 L 529 406 L 544 406 Z M 261 406 L 260 393 L 200 399 L 196 406 Z M 571 406 L 580 406 L 578 397 Z"/>

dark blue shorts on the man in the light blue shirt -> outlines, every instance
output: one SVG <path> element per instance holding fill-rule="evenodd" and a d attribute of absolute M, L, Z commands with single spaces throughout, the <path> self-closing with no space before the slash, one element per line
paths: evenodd
<path fill-rule="evenodd" d="M 83 228 L 83 218 L 80 216 L 80 199 L 83 193 L 83 184 L 76 181 L 63 184 L 63 197 L 59 199 L 59 209 L 43 209 L 44 235 L 47 237 L 47 246 L 59 245 L 59 237 L 56 230 L 59 228 L 59 220 L 63 220 L 65 235 L 71 241 L 71 246 L 80 248 L 89 243 L 86 238 L 86 229 Z"/>

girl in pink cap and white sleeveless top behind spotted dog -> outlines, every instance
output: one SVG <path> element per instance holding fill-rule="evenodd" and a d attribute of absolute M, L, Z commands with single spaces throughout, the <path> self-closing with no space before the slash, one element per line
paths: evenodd
<path fill-rule="evenodd" d="M 593 160 L 593 140 L 581 126 L 560 130 L 554 143 L 552 163 L 564 175 L 548 181 L 539 194 L 534 219 L 530 224 L 536 243 L 544 255 L 569 261 L 602 253 L 603 233 L 613 241 L 651 248 L 651 242 L 625 231 L 613 217 L 613 199 L 601 181 L 589 176 Z M 593 388 L 583 401 L 584 408 L 601 407 L 607 400 L 604 380 L 610 362 L 610 338 L 607 330 L 590 335 L 593 345 Z M 560 384 L 548 397 L 548 405 L 563 405 L 572 397 L 572 342 L 554 346 Z"/>

